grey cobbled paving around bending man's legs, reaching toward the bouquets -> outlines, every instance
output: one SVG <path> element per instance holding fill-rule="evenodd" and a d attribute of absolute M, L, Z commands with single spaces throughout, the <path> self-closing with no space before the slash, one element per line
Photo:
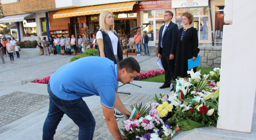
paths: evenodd
<path fill-rule="evenodd" d="M 143 93 L 131 93 L 131 95 L 118 93 L 118 96 L 120 97 L 123 103 L 126 103 L 124 105 L 129 111 L 131 111 L 130 105 L 134 103 L 138 104 L 139 102 L 142 102 L 144 106 L 145 103 L 149 101 L 151 102 L 154 101 L 153 100 L 154 95 L 143 94 Z M 96 120 L 96 127 L 94 130 L 93 140 L 113 140 L 114 138 L 110 134 L 109 129 L 107 128 L 106 121 L 105 119 L 103 119 L 101 105 L 98 105 L 95 108 L 91 109 L 91 112 Z M 125 117 L 122 117 L 122 118 L 119 118 L 119 120 L 117 121 L 119 128 L 123 127 L 122 121 L 124 120 L 125 120 Z M 74 137 L 78 138 L 79 128 L 76 125 L 74 127 L 71 127 L 73 126 L 73 124 L 74 123 L 71 122 L 67 126 L 58 130 L 54 136 L 55 140 L 57 140 L 57 138 L 65 138 L 65 139 L 74 138 Z"/>

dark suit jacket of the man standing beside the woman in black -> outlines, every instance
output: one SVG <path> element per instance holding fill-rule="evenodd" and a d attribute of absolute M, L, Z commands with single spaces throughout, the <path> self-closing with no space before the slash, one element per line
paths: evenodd
<path fill-rule="evenodd" d="M 161 44 L 162 32 L 163 32 L 164 26 L 165 24 L 162 27 L 160 27 L 160 31 L 159 31 L 158 53 L 161 54 L 161 50 L 163 49 L 164 54 L 175 55 L 177 37 L 179 32 L 178 25 L 173 23 L 172 21 L 169 23 L 169 25 L 167 26 L 164 32 L 164 37 L 162 42 L 163 48 L 162 48 L 160 44 Z"/>

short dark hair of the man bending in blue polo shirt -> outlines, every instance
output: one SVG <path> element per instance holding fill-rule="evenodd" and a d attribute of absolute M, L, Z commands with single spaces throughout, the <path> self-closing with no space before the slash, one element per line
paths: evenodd
<path fill-rule="evenodd" d="M 118 69 L 125 68 L 127 73 L 133 73 L 134 71 L 140 72 L 141 67 L 139 66 L 138 61 L 133 57 L 127 57 L 120 61 L 120 63 L 117 64 Z"/>

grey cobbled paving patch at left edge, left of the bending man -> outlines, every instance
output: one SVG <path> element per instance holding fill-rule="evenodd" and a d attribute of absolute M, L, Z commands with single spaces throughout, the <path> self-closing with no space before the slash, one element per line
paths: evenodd
<path fill-rule="evenodd" d="M 0 100 L 0 127 L 49 105 L 49 96 L 24 92 L 6 94 Z M 0 134 L 4 131 L 0 129 Z"/>

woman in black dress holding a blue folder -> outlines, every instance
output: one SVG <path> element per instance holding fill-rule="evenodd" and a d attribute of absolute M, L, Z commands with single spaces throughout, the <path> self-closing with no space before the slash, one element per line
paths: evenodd
<path fill-rule="evenodd" d="M 188 78 L 188 60 L 193 58 L 195 61 L 200 50 L 198 48 L 198 32 L 191 26 L 194 20 L 193 14 L 184 12 L 181 14 L 181 19 L 184 27 L 178 33 L 174 76 L 184 77 L 186 80 Z M 196 67 L 193 68 L 193 71 L 196 72 Z"/>

